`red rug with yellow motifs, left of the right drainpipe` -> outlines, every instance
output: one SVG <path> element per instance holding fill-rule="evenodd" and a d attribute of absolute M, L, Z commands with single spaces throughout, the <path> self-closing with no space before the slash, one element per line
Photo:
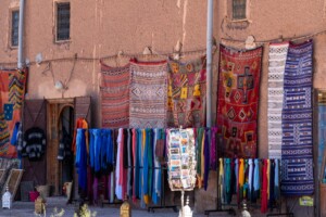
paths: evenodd
<path fill-rule="evenodd" d="M 167 126 L 203 127 L 205 124 L 205 59 L 168 62 Z"/>

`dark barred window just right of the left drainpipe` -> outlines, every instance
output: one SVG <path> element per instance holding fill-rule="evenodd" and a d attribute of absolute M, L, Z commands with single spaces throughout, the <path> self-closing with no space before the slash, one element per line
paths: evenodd
<path fill-rule="evenodd" d="M 68 40 L 71 37 L 71 4 L 57 4 L 57 41 Z"/>

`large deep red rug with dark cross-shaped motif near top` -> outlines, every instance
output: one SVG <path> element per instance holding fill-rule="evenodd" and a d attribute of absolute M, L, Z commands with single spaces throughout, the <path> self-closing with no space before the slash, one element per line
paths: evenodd
<path fill-rule="evenodd" d="M 222 156 L 256 156 L 262 51 L 220 46 L 217 126 Z"/>

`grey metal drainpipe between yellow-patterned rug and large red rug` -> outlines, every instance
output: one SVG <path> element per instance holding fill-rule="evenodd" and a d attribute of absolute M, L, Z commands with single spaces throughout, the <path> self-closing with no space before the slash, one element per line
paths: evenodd
<path fill-rule="evenodd" d="M 206 127 L 212 127 L 212 46 L 213 46 L 213 0 L 208 0 L 206 31 Z"/>

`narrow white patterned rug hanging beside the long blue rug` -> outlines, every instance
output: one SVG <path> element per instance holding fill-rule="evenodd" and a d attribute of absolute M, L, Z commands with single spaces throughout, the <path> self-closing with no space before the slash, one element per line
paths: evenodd
<path fill-rule="evenodd" d="M 281 157 L 281 108 L 284 73 L 289 42 L 269 44 L 268 64 L 268 157 Z"/>

